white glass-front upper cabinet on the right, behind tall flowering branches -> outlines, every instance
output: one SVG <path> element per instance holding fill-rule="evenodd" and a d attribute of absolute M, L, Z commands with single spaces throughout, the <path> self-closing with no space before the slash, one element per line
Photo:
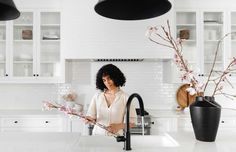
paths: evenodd
<path fill-rule="evenodd" d="M 230 10 L 215 9 L 176 9 L 176 37 L 180 37 L 181 31 L 189 33 L 188 38 L 183 38 L 183 56 L 188 61 L 189 68 L 193 70 L 197 77 L 208 76 L 218 40 L 226 33 L 236 30 L 234 27 L 234 12 Z M 232 23 L 231 23 L 232 22 Z M 226 37 L 218 51 L 215 71 L 223 71 L 235 53 L 233 49 L 234 35 Z M 166 62 L 169 76 L 166 82 L 181 82 L 179 69 L 173 61 Z M 165 69 L 164 69 L 165 70 Z M 219 72 L 213 72 L 213 77 L 218 77 Z M 233 75 L 232 75 L 233 76 Z"/>

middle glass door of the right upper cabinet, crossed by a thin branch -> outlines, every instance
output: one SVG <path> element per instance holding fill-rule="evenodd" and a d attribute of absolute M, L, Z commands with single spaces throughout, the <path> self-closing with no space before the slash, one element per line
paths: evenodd
<path fill-rule="evenodd" d="M 224 34 L 223 12 L 203 12 L 203 33 L 204 33 L 204 76 L 208 76 L 214 60 L 215 51 L 220 38 Z M 212 76 L 219 76 L 219 71 L 224 68 L 223 63 L 224 43 L 222 41 L 216 58 L 215 68 Z"/>

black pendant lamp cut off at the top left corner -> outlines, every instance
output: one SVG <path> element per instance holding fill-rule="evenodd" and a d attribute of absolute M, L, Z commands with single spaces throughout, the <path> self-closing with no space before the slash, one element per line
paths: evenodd
<path fill-rule="evenodd" d="M 13 20 L 20 16 L 12 0 L 0 0 L 0 21 Z"/>

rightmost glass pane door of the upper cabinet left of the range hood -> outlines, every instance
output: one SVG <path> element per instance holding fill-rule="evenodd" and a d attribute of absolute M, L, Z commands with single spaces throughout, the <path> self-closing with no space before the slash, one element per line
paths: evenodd
<path fill-rule="evenodd" d="M 60 12 L 40 13 L 40 77 L 60 76 Z"/>

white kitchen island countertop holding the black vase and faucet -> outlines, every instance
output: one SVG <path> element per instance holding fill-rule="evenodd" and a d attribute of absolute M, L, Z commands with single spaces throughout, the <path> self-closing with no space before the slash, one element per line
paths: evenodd
<path fill-rule="evenodd" d="M 196 141 L 193 132 L 171 132 L 155 136 L 131 136 L 133 152 L 233 152 L 236 131 L 218 132 L 215 142 Z M 4 152 L 120 152 L 123 143 L 114 137 L 81 136 L 79 133 L 2 132 Z"/>

